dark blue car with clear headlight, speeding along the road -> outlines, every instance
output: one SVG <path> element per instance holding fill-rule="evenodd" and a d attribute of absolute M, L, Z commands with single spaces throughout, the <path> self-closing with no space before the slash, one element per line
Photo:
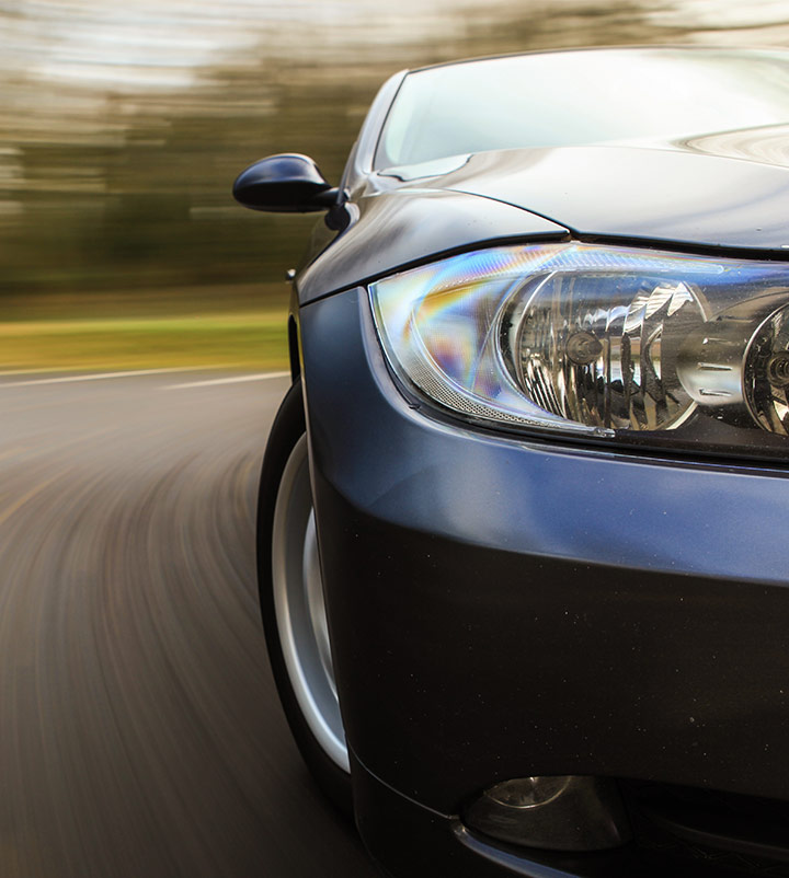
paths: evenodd
<path fill-rule="evenodd" d="M 391 876 L 789 875 L 789 54 L 404 71 L 265 450 L 293 735 Z"/>

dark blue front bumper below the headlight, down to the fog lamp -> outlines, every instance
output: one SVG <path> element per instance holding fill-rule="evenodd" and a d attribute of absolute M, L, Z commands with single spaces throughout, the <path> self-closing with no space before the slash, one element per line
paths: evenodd
<path fill-rule="evenodd" d="M 531 775 L 789 799 L 784 470 L 447 425 L 392 384 L 363 290 L 300 320 L 335 671 L 371 776 L 444 816 Z"/>

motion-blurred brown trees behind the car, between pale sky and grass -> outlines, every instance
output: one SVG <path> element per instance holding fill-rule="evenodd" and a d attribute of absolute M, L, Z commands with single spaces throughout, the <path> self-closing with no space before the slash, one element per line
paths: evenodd
<path fill-rule="evenodd" d="M 65 14 L 57 0 L 49 7 Z M 343 8 L 353 16 L 353 5 Z M 0 292 L 278 280 L 316 219 L 237 208 L 230 187 L 247 164 L 299 151 L 338 181 L 369 101 L 397 69 L 547 46 L 682 38 L 677 28 L 650 24 L 654 8 L 636 0 L 438 5 L 441 14 L 426 14 L 420 30 L 386 43 L 378 41 L 389 33 L 369 10 L 352 20 L 355 27 L 331 33 L 291 21 L 262 34 L 259 51 L 204 67 L 178 89 L 96 92 L 62 82 L 46 94 L 43 80 L 7 66 Z M 10 2 L 0 24 L 24 18 L 25 9 L 22 0 Z"/>

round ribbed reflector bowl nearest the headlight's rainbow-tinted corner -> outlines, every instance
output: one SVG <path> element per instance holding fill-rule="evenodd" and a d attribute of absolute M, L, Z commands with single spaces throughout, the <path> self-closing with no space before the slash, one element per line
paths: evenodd
<path fill-rule="evenodd" d="M 684 281 L 557 273 L 514 312 L 513 377 L 541 408 L 633 430 L 665 429 L 693 408 L 676 350 L 704 310 Z"/>

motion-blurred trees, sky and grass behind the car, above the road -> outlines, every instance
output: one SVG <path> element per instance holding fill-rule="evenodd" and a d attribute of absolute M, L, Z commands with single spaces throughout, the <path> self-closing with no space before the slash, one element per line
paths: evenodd
<path fill-rule="evenodd" d="M 316 217 L 238 208 L 232 181 L 299 151 L 336 182 L 403 67 L 780 45 L 787 20 L 775 0 L 3 0 L 0 370 L 282 368 L 284 273 Z"/>

